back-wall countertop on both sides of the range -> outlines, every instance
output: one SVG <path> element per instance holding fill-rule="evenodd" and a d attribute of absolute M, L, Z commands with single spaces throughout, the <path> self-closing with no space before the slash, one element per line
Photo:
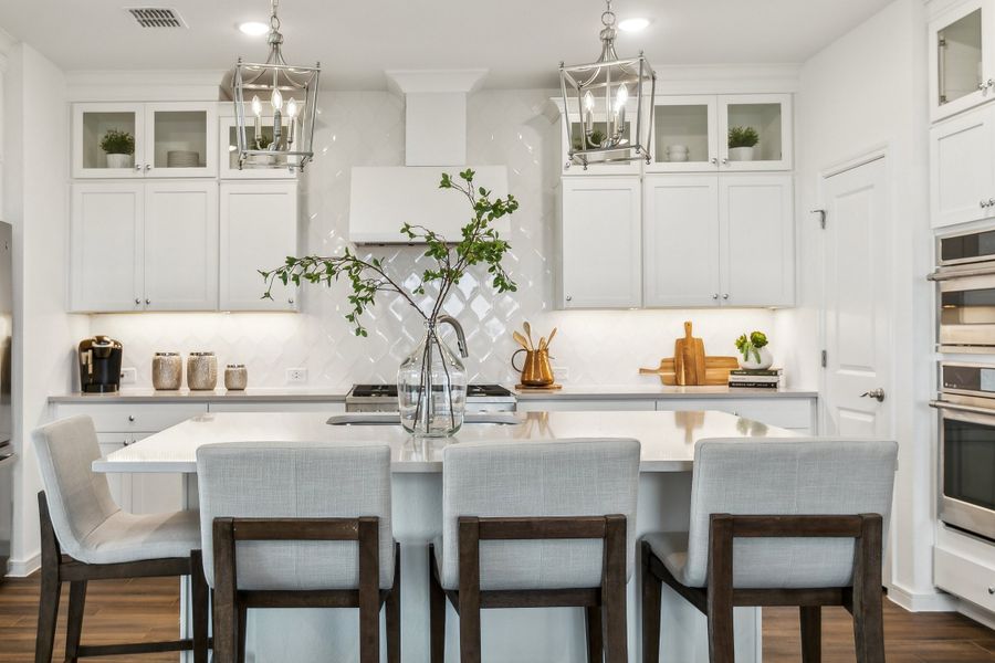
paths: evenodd
<path fill-rule="evenodd" d="M 348 389 L 329 388 L 249 388 L 244 391 L 156 391 L 126 388 L 117 393 L 73 392 L 50 396 L 50 403 L 190 403 L 190 402 L 318 402 L 341 403 Z M 818 398 L 817 391 L 805 389 L 730 389 L 729 387 L 664 387 L 661 385 L 585 385 L 565 386 L 554 391 L 516 389 L 520 401 L 530 400 L 663 400 L 714 398 Z"/>

